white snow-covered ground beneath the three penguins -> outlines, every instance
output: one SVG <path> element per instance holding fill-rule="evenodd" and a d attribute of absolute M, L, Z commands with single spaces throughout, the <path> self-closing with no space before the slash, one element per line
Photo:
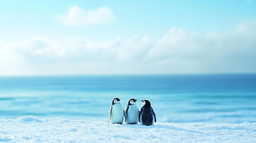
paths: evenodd
<path fill-rule="evenodd" d="M 27 116 L 0 119 L 0 143 L 255 143 L 256 123 L 110 124 Z"/>

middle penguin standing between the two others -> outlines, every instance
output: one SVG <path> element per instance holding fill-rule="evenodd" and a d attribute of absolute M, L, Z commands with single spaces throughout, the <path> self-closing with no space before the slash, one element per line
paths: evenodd
<path fill-rule="evenodd" d="M 136 99 L 132 98 L 128 101 L 126 106 L 126 124 L 137 124 L 139 122 L 139 106 Z"/>

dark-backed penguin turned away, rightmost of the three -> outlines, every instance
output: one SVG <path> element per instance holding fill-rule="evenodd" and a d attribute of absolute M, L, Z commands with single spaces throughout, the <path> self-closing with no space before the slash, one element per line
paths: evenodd
<path fill-rule="evenodd" d="M 142 106 L 139 112 L 139 122 L 142 125 L 153 125 L 154 121 L 156 122 L 157 119 L 155 117 L 155 112 L 151 107 L 151 103 L 148 100 L 141 100 Z"/>

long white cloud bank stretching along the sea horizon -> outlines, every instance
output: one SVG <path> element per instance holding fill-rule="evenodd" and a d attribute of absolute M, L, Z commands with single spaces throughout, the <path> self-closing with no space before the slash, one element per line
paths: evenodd
<path fill-rule="evenodd" d="M 172 28 L 110 41 L 30 40 L 0 46 L 0 75 L 256 72 L 256 22 L 206 35 Z"/>

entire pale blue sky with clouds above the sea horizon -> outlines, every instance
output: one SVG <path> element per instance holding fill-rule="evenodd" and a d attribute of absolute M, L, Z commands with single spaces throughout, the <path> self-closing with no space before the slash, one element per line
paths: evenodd
<path fill-rule="evenodd" d="M 256 73 L 256 0 L 1 0 L 0 76 Z"/>

